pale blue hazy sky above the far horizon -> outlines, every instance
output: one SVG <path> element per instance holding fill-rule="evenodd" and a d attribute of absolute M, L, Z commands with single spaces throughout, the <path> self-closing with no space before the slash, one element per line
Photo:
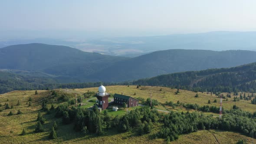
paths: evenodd
<path fill-rule="evenodd" d="M 0 38 L 256 31 L 255 7 L 256 0 L 1 0 Z"/>

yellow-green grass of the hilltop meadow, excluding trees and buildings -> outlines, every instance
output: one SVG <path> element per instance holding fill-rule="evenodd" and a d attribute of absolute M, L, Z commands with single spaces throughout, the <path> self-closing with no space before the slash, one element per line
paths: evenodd
<path fill-rule="evenodd" d="M 130 95 L 135 98 L 149 98 L 149 91 L 152 92 L 152 98 L 156 99 L 160 102 L 159 105 L 156 105 L 155 108 L 161 109 L 164 111 L 195 111 L 194 109 L 186 109 L 182 106 L 177 106 L 175 108 L 171 106 L 164 105 L 166 101 L 173 101 L 177 103 L 180 101 L 181 103 L 187 104 L 198 104 L 200 106 L 203 105 L 216 105 L 219 106 L 219 98 L 215 95 L 210 95 L 207 93 L 198 93 L 199 97 L 195 98 L 196 93 L 180 90 L 179 94 L 175 94 L 177 89 L 170 89 L 165 87 L 151 87 L 151 86 L 141 86 L 136 88 L 135 85 L 117 85 L 117 86 L 107 86 L 106 92 L 109 93 L 121 93 L 123 92 L 124 95 Z M 56 92 L 65 94 L 65 96 L 69 99 L 74 98 L 75 94 L 78 97 L 83 96 L 85 92 L 97 92 L 98 88 L 82 88 L 82 89 L 56 89 Z M 60 99 L 59 97 L 52 97 L 51 91 L 37 91 L 38 94 L 35 95 L 35 91 L 13 91 L 9 93 L 5 93 L 0 95 L 0 143 L 13 143 L 13 144 L 20 144 L 20 143 L 102 143 L 106 142 L 109 144 L 116 144 L 116 143 L 151 143 L 151 144 L 162 144 L 165 143 L 164 139 L 151 139 L 152 134 L 157 133 L 159 131 L 160 125 L 154 125 L 153 130 L 149 134 L 144 134 L 139 136 L 134 134 L 133 131 L 128 131 L 125 133 L 120 133 L 118 131 L 114 131 L 112 129 L 106 130 L 102 136 L 96 136 L 95 134 L 82 134 L 81 132 L 75 132 L 73 129 L 72 124 L 64 125 L 62 124 L 62 118 L 55 118 L 54 112 L 43 112 L 41 111 L 42 108 L 42 101 L 47 100 L 47 107 L 50 108 L 51 104 L 54 105 L 56 108 L 58 105 L 65 103 L 63 97 Z M 225 93 L 223 95 L 226 96 Z M 247 95 L 247 93 L 246 93 Z M 32 99 L 31 106 L 29 105 L 29 99 Z M 233 105 L 243 109 L 244 111 L 254 112 L 256 111 L 256 105 L 250 103 L 250 101 L 233 101 L 233 95 L 231 94 L 232 98 L 228 98 L 228 101 L 223 101 L 223 108 L 224 109 L 231 109 Z M 213 102 L 214 99 L 217 99 L 217 102 Z M 20 105 L 17 105 L 18 100 L 20 101 Z M 84 98 L 82 103 L 84 104 L 82 107 L 87 108 L 92 106 L 95 102 L 95 97 Z M 111 100 L 111 98 L 109 99 Z M 211 101 L 208 104 L 208 100 Z M 11 107 L 13 104 L 13 108 L 5 109 L 4 104 L 8 103 Z M 161 105 L 163 104 L 163 105 Z M 74 105 L 73 105 L 74 106 Z M 129 109 L 129 111 L 132 108 Z M 21 115 L 16 115 L 17 111 L 22 111 Z M 7 116 L 9 112 L 12 111 L 14 115 Z M 43 117 L 46 118 L 45 124 L 43 127 L 45 128 L 44 132 L 41 133 L 34 133 L 36 127 L 36 118 L 38 115 L 38 111 L 41 111 Z M 103 113 L 103 112 L 102 112 Z M 109 114 L 113 117 L 115 115 L 125 115 L 125 109 L 119 109 L 118 111 L 109 111 Z M 207 115 L 212 114 L 214 116 L 218 116 L 216 113 L 207 112 Z M 56 130 L 58 138 L 56 140 L 49 140 L 49 132 L 53 125 L 53 121 L 59 126 L 59 129 Z M 20 135 L 23 128 L 26 130 L 26 135 Z M 220 131 L 220 130 L 200 130 L 197 132 L 193 132 L 190 134 L 182 134 L 180 135 L 179 139 L 176 141 L 172 141 L 172 144 L 184 144 L 184 143 L 198 143 L 198 144 L 205 144 L 205 143 L 217 143 L 217 140 L 221 143 L 236 143 L 236 141 L 240 139 L 246 139 L 247 141 L 252 141 L 252 138 L 246 137 L 243 134 L 239 134 L 232 131 Z"/>

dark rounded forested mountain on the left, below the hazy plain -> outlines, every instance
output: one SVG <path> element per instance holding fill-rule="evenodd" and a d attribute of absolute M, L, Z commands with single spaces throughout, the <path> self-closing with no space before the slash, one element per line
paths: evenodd
<path fill-rule="evenodd" d="M 85 76 L 105 69 L 122 59 L 126 58 L 41 43 L 7 46 L 0 49 L 0 69 L 41 71 L 57 76 L 79 76 L 77 79 L 84 79 Z"/>

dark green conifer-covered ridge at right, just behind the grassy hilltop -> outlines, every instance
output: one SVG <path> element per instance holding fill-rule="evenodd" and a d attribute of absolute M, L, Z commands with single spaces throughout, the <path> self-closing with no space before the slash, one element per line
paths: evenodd
<path fill-rule="evenodd" d="M 256 62 L 232 68 L 179 72 L 140 79 L 133 84 L 203 92 L 256 92 Z"/>

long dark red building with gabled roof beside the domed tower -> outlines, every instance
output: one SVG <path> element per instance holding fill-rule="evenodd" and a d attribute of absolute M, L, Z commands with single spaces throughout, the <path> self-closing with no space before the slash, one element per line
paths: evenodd
<path fill-rule="evenodd" d="M 114 104 L 115 105 L 123 105 L 123 103 L 126 103 L 127 107 L 135 107 L 139 105 L 139 100 L 136 98 L 132 98 L 131 96 L 127 95 L 120 95 L 115 94 L 114 95 Z"/>

